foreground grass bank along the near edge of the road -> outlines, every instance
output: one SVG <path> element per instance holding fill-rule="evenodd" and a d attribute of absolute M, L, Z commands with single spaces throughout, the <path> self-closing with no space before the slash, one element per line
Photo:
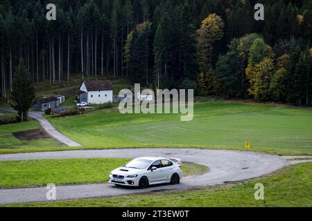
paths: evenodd
<path fill-rule="evenodd" d="M 265 200 L 254 200 L 254 184 Z M 289 166 L 270 177 L 219 188 L 6 206 L 312 206 L 312 163 Z"/>

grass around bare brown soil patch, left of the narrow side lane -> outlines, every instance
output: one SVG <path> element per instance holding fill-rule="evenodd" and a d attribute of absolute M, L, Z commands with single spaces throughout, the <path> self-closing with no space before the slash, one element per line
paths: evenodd
<path fill-rule="evenodd" d="M 6 124 L 0 126 L 0 149 L 3 151 L 14 151 L 19 150 L 19 148 L 34 148 L 34 147 L 51 147 L 60 146 L 60 143 L 53 139 L 41 139 L 41 140 L 19 140 L 15 138 L 12 133 L 18 131 L 28 131 L 31 129 L 40 128 L 40 124 L 29 119 L 28 122 L 18 123 L 18 124 Z"/>

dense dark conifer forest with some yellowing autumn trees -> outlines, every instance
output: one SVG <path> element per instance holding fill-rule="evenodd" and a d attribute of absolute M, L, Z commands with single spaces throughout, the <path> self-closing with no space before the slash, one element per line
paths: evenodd
<path fill-rule="evenodd" d="M 46 19 L 48 3 L 56 21 Z M 254 19 L 256 3 L 264 21 Z M 310 105 L 311 34 L 311 0 L 1 0 L 1 97 L 23 61 L 34 84 L 124 78 Z"/>

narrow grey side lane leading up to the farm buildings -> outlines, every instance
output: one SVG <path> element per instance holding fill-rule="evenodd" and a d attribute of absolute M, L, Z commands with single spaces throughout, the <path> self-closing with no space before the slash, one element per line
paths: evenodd
<path fill-rule="evenodd" d="M 0 111 L 8 111 L 11 113 L 16 113 L 16 111 L 12 110 L 11 108 L 0 108 Z M 42 117 L 42 115 L 43 112 L 31 111 L 28 113 L 28 116 L 33 119 L 36 119 L 40 123 L 42 128 L 44 128 L 44 131 L 46 131 L 46 133 L 49 133 L 49 135 L 53 137 L 55 140 L 58 140 L 63 144 L 71 147 L 81 146 L 77 142 L 74 142 L 73 140 L 69 139 L 69 137 L 65 137 L 64 135 L 62 135 L 62 133 L 57 131 L 47 119 Z"/>

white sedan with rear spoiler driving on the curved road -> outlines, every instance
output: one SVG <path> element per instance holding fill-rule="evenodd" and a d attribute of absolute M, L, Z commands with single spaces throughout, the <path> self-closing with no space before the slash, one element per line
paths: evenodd
<path fill-rule="evenodd" d="M 116 186 L 179 184 L 182 180 L 181 160 L 166 157 L 139 157 L 110 173 L 110 183 Z"/>

